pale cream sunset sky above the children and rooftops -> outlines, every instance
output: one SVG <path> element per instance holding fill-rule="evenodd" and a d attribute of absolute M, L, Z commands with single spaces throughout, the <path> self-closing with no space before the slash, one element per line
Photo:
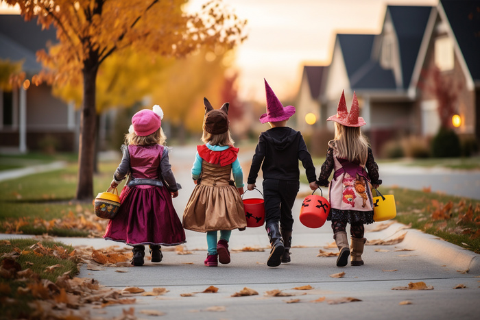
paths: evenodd
<path fill-rule="evenodd" d="M 191 0 L 191 10 L 207 0 Z M 237 49 L 243 99 L 265 100 L 263 78 L 281 99 L 294 97 L 304 64 L 326 65 L 336 33 L 378 34 L 387 4 L 437 5 L 438 0 L 223 0 L 248 20 Z M 4 7 L 1 3 L 1 7 Z M 1 10 L 1 8 L 0 8 Z"/>

